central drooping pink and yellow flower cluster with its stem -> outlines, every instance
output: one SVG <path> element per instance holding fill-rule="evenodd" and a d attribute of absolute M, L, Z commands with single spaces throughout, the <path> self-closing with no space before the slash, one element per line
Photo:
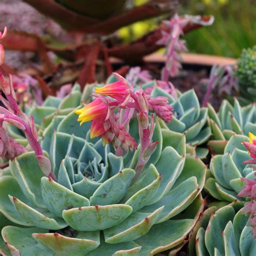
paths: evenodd
<path fill-rule="evenodd" d="M 133 92 L 125 78 L 117 73 L 113 75 L 118 79 L 117 82 L 96 87 L 93 94 L 95 99 L 75 110 L 75 113 L 79 114 L 80 125 L 92 121 L 91 138 L 102 136 L 103 144 L 112 143 L 117 154 L 122 154 L 123 150 L 127 152 L 137 149 L 137 142 L 129 134 L 130 119 L 137 114 L 141 144 L 137 169 L 142 170 L 157 147 L 157 142 L 152 142 L 154 119 L 151 116 L 150 124 L 149 111 L 170 122 L 172 107 L 166 97 L 153 99 L 142 89 Z"/>

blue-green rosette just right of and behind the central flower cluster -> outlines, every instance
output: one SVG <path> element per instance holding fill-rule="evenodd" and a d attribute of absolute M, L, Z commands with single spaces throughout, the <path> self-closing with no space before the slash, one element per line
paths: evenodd
<path fill-rule="evenodd" d="M 200 107 L 199 100 L 194 90 L 185 93 L 178 93 L 178 99 L 155 86 L 151 92 L 152 97 L 164 96 L 169 99 L 170 106 L 173 107 L 173 118 L 170 123 L 160 121 L 161 127 L 184 133 L 186 136 L 187 150 L 204 158 L 208 151 L 203 147 L 198 147 L 207 142 L 211 136 L 211 129 L 207 126 L 208 110 Z"/>

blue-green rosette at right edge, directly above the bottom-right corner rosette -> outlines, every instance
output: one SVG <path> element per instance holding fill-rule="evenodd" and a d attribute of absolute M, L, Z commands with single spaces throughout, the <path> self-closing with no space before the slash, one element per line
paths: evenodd
<path fill-rule="evenodd" d="M 255 177 L 253 167 L 243 163 L 251 159 L 241 144 L 248 141 L 247 136 L 235 134 L 228 140 L 224 154 L 212 157 L 205 183 L 205 190 L 212 197 L 220 201 L 245 201 L 245 197 L 237 196 L 245 186 L 241 178 L 253 180 Z"/>

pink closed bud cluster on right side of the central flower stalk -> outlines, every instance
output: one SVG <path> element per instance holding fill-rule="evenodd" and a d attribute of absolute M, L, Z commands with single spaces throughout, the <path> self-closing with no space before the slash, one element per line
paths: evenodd
<path fill-rule="evenodd" d="M 157 114 L 158 117 L 162 118 L 166 123 L 172 120 L 173 108 L 169 105 L 168 99 L 164 96 L 158 96 L 148 100 L 149 109 L 151 112 Z"/>

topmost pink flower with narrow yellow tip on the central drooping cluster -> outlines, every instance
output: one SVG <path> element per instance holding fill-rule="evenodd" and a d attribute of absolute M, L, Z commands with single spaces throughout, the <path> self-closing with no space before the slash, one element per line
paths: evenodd
<path fill-rule="evenodd" d="M 95 93 L 110 96 L 119 102 L 124 102 L 126 97 L 130 95 L 130 86 L 122 76 L 117 73 L 113 73 L 113 75 L 117 77 L 118 81 L 103 87 L 96 87 Z"/>

